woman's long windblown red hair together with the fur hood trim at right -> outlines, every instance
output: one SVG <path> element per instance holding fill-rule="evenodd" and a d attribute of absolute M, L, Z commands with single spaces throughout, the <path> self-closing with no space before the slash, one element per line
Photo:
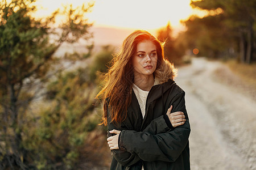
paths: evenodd
<path fill-rule="evenodd" d="M 112 122 L 119 124 L 126 119 L 134 82 L 131 58 L 137 50 L 138 43 L 145 40 L 152 41 L 156 46 L 158 61 L 154 71 L 155 78 L 160 80 L 160 83 L 164 83 L 176 76 L 177 70 L 174 65 L 164 58 L 164 43 L 144 30 L 131 33 L 123 41 L 120 52 L 114 55 L 113 65 L 105 74 L 105 86 L 96 96 L 97 99 L 104 99 L 104 114 L 102 116 L 102 124 L 104 125 L 108 124 L 108 108 Z"/>

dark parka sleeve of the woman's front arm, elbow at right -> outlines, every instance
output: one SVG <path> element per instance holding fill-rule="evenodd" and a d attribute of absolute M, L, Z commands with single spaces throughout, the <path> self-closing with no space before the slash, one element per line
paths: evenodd
<path fill-rule="evenodd" d="M 187 145 L 190 134 L 184 96 L 185 92 L 182 92 L 175 96 L 170 103 L 174 107 L 172 112 L 184 112 L 186 118 L 184 125 L 159 134 L 152 134 L 149 131 L 122 130 L 119 135 L 119 148 L 135 152 L 139 158 L 147 162 L 155 160 L 175 162 Z"/>

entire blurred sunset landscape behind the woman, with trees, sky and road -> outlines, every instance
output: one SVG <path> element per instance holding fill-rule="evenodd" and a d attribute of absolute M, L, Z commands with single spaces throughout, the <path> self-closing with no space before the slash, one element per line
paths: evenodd
<path fill-rule="evenodd" d="M 166 41 L 191 169 L 256 169 L 256 0 L 0 2 L 0 169 L 109 169 L 95 99 L 122 41 Z"/>

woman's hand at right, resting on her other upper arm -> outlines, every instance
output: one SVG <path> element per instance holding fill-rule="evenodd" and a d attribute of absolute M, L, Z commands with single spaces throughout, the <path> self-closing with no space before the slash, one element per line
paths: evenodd
<path fill-rule="evenodd" d="M 167 110 L 167 116 L 169 117 L 169 120 L 172 124 L 172 126 L 177 127 L 177 126 L 180 126 L 180 125 L 183 125 L 185 124 L 185 115 L 183 112 L 174 112 L 174 113 L 171 113 L 172 111 L 172 105 L 171 107 Z"/>

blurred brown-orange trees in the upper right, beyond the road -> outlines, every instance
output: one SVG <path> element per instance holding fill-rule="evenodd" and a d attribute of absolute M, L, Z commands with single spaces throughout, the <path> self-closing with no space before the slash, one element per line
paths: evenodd
<path fill-rule="evenodd" d="M 159 31 L 159 37 L 167 39 L 166 52 L 171 50 L 167 52 L 171 61 L 192 53 L 193 49 L 199 50 L 198 55 L 210 58 L 256 61 L 256 0 L 191 1 L 191 6 L 207 10 L 208 15 L 191 16 L 183 21 L 186 31 L 175 39 L 166 36 L 166 32 L 171 32 L 170 24 Z"/>

